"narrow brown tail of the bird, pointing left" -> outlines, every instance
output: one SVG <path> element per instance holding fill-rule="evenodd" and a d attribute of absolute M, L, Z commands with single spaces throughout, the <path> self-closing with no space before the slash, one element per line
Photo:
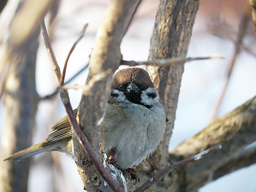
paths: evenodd
<path fill-rule="evenodd" d="M 11 159 L 24 159 L 26 157 L 35 156 L 36 154 L 40 154 L 41 152 L 45 152 L 45 151 L 47 150 L 45 147 L 42 146 L 42 143 L 38 143 L 31 147 L 20 150 L 15 154 L 12 154 L 12 156 L 4 159 L 4 161 L 11 160 Z"/>

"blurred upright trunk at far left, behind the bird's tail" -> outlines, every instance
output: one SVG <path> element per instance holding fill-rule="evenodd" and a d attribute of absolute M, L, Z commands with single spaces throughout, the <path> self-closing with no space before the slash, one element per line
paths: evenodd
<path fill-rule="evenodd" d="M 0 191 L 28 191 L 29 159 L 24 161 L 2 159 L 31 146 L 38 102 L 35 88 L 38 35 L 39 28 L 10 60 L 4 96 L 7 115 L 1 142 Z"/>

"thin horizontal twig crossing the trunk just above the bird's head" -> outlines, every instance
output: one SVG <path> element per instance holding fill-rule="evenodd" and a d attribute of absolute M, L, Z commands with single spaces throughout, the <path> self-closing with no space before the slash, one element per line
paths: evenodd
<path fill-rule="evenodd" d="M 211 60 L 211 59 L 223 59 L 222 56 L 209 56 L 209 57 L 197 57 L 197 58 L 168 58 L 163 60 L 154 60 L 154 61 L 121 61 L 121 65 L 128 65 L 134 67 L 137 65 L 154 65 L 158 67 L 166 67 L 170 65 L 177 65 L 179 63 L 196 61 L 196 60 Z"/>

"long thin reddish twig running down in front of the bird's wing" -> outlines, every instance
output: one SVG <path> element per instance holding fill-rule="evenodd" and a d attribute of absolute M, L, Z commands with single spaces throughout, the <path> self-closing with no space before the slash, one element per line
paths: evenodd
<path fill-rule="evenodd" d="M 104 168 L 103 164 L 99 160 L 98 154 L 96 154 L 94 152 L 94 150 L 93 150 L 92 146 L 90 145 L 88 139 L 86 138 L 83 131 L 81 130 L 81 128 L 80 128 L 80 126 L 79 126 L 79 124 L 76 120 L 76 116 L 73 113 L 73 109 L 72 109 L 72 106 L 70 104 L 70 100 L 69 100 L 69 97 L 68 97 L 68 92 L 67 92 L 67 90 L 64 90 L 63 88 L 61 88 L 60 67 L 58 66 L 58 63 L 57 63 L 56 58 L 54 56 L 54 52 L 52 51 L 51 42 L 49 40 L 49 36 L 47 34 L 47 30 L 45 28 L 44 21 L 40 22 L 40 26 L 41 26 L 41 29 L 42 29 L 42 32 L 43 32 L 43 35 L 44 35 L 45 47 L 47 48 L 49 57 L 51 58 L 52 68 L 54 68 L 54 73 L 56 74 L 56 77 L 58 79 L 58 84 L 60 86 L 61 101 L 63 102 L 63 104 L 65 106 L 65 109 L 66 109 L 66 112 L 67 112 L 67 115 L 68 115 L 68 120 L 69 120 L 70 124 L 73 127 L 73 131 L 77 136 L 77 140 L 79 141 L 79 143 L 81 143 L 83 149 L 86 151 L 86 153 L 88 154 L 88 156 L 92 160 L 93 164 L 95 165 L 95 167 L 97 168 L 97 170 L 99 171 L 99 173 L 103 177 L 103 179 L 106 180 L 106 182 L 108 182 L 111 189 L 113 189 L 113 191 L 124 191 L 124 189 L 122 189 L 120 186 L 118 186 L 118 184 L 115 182 L 113 177 Z M 64 81 L 64 79 L 63 79 L 63 81 Z"/>

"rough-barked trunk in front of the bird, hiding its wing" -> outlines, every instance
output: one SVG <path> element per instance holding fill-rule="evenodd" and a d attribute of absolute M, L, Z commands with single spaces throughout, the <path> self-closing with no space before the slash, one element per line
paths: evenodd
<path fill-rule="evenodd" d="M 120 44 L 132 17 L 137 0 L 114 0 L 109 4 L 104 23 L 97 33 L 97 43 L 90 56 L 90 73 L 86 84 L 90 90 L 83 93 L 79 111 L 80 126 L 95 152 L 99 150 L 99 127 L 97 122 L 103 115 L 111 86 L 111 77 L 119 67 L 122 56 Z M 94 166 L 84 166 L 86 154 L 73 137 L 77 170 L 88 191 L 100 188 L 106 191 Z M 100 187 L 102 186 L 102 188 Z M 104 189 L 105 188 L 105 189 Z"/>

